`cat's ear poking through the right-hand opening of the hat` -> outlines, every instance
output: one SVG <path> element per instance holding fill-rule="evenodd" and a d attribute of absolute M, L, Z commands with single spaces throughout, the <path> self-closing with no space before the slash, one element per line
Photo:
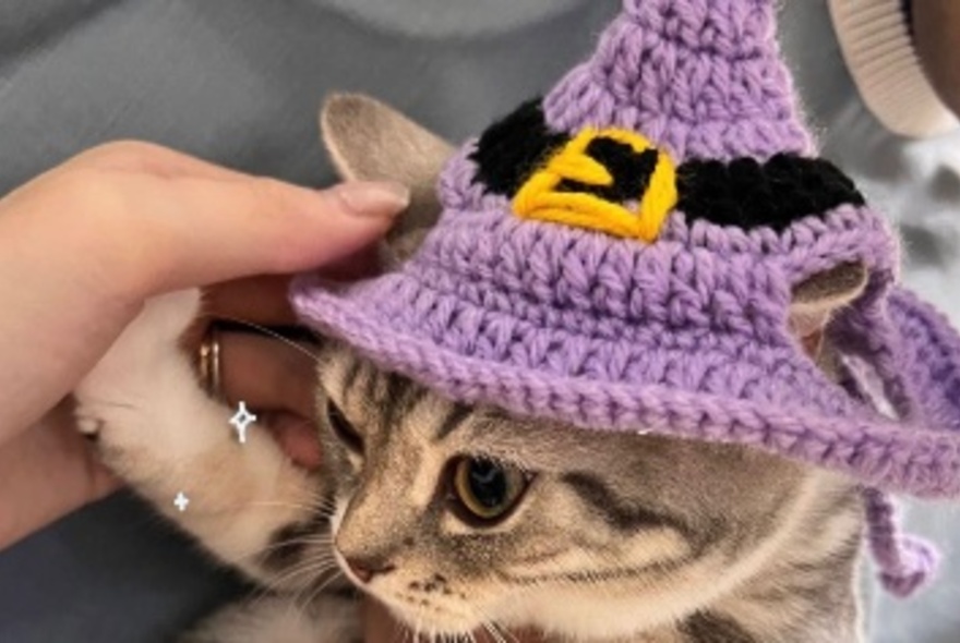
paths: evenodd
<path fill-rule="evenodd" d="M 814 275 L 793 289 L 790 328 L 811 357 L 820 355 L 830 318 L 863 294 L 867 280 L 866 266 L 851 262 Z"/>

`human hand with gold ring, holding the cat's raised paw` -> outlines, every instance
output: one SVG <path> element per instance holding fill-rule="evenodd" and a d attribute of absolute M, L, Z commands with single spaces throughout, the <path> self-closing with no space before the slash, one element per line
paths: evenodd
<path fill-rule="evenodd" d="M 121 143 L 0 199 L 0 547 L 116 485 L 73 429 L 64 398 L 145 299 L 337 263 L 381 235 L 407 198 L 389 184 L 317 192 Z M 213 312 L 236 313 L 245 293 L 250 314 L 240 315 L 271 323 L 283 280 L 263 283 L 212 289 Z M 238 351 L 225 353 L 225 389 L 266 403 L 271 391 L 231 375 L 262 347 Z M 301 393 L 274 401 L 304 412 Z"/>

